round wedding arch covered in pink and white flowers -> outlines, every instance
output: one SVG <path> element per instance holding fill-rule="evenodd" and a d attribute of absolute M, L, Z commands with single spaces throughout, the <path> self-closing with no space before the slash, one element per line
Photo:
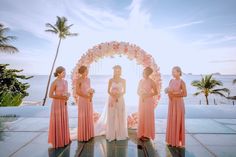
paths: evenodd
<path fill-rule="evenodd" d="M 141 49 L 139 46 L 135 44 L 130 44 L 128 42 L 105 42 L 98 45 L 95 45 L 93 48 L 89 49 L 86 53 L 82 55 L 82 57 L 79 59 L 78 63 L 76 64 L 73 72 L 72 72 L 72 88 L 73 88 L 73 96 L 75 99 L 75 102 L 78 101 L 78 95 L 76 94 L 76 85 L 79 78 L 78 69 L 80 66 L 84 65 L 89 67 L 90 64 L 93 62 L 97 62 L 99 59 L 102 59 L 104 57 L 112 57 L 114 55 L 121 55 L 121 56 L 127 56 L 130 60 L 136 60 L 137 64 L 142 65 L 143 67 L 151 67 L 153 69 L 153 73 L 151 75 L 151 78 L 155 81 L 157 90 L 161 90 L 161 74 L 160 74 L 160 68 L 156 64 L 154 58 L 145 52 L 143 49 Z M 158 101 L 160 100 L 160 92 L 155 97 L 156 100 L 156 106 L 158 104 Z M 98 119 L 99 114 L 94 113 L 95 120 Z M 138 115 L 137 113 L 132 113 L 128 116 L 128 126 L 130 128 L 134 128 L 137 125 L 138 122 Z"/>

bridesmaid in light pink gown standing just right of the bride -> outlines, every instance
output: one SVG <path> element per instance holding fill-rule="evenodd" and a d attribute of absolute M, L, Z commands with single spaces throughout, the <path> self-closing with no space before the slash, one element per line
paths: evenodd
<path fill-rule="evenodd" d="M 139 119 L 138 138 L 148 140 L 155 138 L 155 100 L 157 93 L 155 82 L 150 78 L 153 70 L 146 67 L 143 71 L 143 79 L 139 82 Z"/>

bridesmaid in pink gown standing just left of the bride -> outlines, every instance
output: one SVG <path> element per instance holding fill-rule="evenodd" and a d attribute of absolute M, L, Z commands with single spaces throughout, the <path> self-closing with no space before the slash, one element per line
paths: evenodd
<path fill-rule="evenodd" d="M 88 78 L 88 68 L 81 66 L 79 68 L 81 75 L 76 87 L 76 93 L 79 95 L 78 101 L 78 141 L 89 141 L 94 137 L 93 122 L 93 104 L 92 98 L 94 90 L 90 87 Z"/>

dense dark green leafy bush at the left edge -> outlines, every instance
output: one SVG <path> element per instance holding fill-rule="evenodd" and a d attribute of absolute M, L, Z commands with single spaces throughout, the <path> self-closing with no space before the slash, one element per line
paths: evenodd
<path fill-rule="evenodd" d="M 20 80 L 28 80 L 32 76 L 20 75 L 23 70 L 7 69 L 9 64 L 0 64 L 0 106 L 18 106 L 22 99 L 29 94 L 28 83 Z"/>

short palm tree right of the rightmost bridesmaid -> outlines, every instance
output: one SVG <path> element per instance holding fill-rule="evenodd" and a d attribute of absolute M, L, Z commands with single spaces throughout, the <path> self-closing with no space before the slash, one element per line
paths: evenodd
<path fill-rule="evenodd" d="M 223 86 L 223 83 L 214 79 L 212 74 L 202 77 L 201 80 L 192 81 L 191 84 L 198 89 L 198 92 L 194 93 L 194 95 L 197 96 L 199 94 L 204 94 L 207 105 L 209 104 L 208 96 L 210 94 L 226 97 L 225 94 L 229 95 L 230 93 L 228 88 L 216 88 L 217 86 Z"/>

